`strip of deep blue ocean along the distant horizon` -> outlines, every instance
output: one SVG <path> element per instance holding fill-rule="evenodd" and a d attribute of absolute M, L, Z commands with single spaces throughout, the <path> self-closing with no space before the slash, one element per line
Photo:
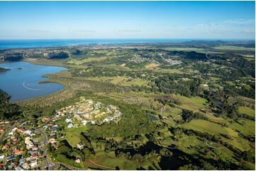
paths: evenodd
<path fill-rule="evenodd" d="M 182 42 L 188 39 L 59 39 L 59 40 L 0 40 L 0 49 L 26 47 L 54 47 L 81 44 L 109 44 L 109 43 L 146 43 L 146 42 Z"/>

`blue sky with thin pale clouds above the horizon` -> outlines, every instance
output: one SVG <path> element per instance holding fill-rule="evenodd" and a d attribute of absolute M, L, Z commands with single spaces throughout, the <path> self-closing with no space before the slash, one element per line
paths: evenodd
<path fill-rule="evenodd" d="M 255 40 L 255 1 L 0 1 L 0 39 Z"/>

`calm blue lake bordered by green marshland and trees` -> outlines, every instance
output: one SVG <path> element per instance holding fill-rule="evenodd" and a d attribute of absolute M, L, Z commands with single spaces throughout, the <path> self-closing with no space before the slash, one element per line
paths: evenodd
<path fill-rule="evenodd" d="M 3 63 L 0 67 L 11 69 L 0 72 L 0 89 L 11 95 L 11 101 L 48 95 L 65 88 L 59 83 L 38 83 L 48 80 L 42 77 L 45 74 L 67 70 L 64 67 L 36 65 L 25 61 Z"/>

